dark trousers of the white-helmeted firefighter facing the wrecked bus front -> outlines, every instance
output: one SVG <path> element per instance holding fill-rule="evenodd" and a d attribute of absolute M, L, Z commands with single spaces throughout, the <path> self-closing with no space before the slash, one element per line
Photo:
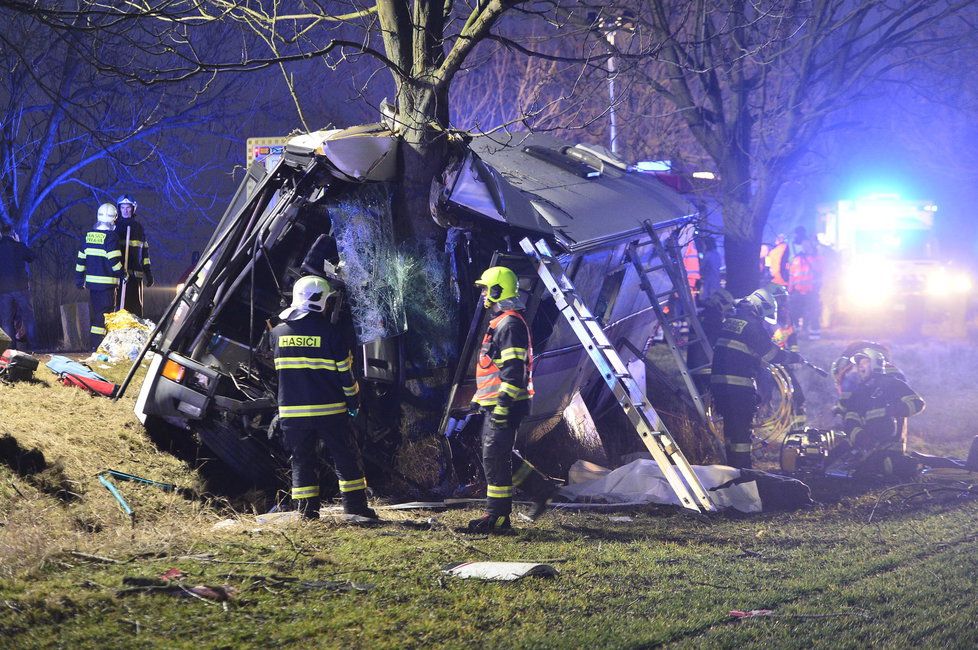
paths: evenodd
<path fill-rule="evenodd" d="M 317 516 L 319 512 L 322 501 L 319 495 L 320 460 L 317 447 L 321 440 L 333 459 L 344 510 L 349 512 L 366 508 L 367 479 L 349 418 L 343 414 L 322 419 L 326 423 L 316 428 L 282 426 L 285 449 L 292 457 L 293 507 L 310 517 Z"/>

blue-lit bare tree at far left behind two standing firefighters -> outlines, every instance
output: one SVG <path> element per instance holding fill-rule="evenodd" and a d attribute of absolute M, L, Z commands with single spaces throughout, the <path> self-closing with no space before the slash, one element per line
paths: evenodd
<path fill-rule="evenodd" d="M 77 56 L 78 34 L 13 17 L 0 34 L 0 219 L 27 243 L 120 184 L 152 186 L 171 208 L 202 207 L 192 180 L 211 165 L 182 142 L 232 110 L 189 85 L 137 88 Z M 43 44 L 43 47 L 39 47 Z M 217 90 L 217 89 L 215 89 Z"/>

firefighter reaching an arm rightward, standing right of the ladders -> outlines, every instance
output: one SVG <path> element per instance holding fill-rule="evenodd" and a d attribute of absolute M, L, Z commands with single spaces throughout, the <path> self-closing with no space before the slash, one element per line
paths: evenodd
<path fill-rule="evenodd" d="M 751 425 L 757 411 L 758 372 L 771 363 L 798 363 L 797 352 L 782 350 L 771 341 L 764 323 L 778 322 L 778 305 L 767 289 L 758 289 L 737 302 L 724 320 L 713 346 L 710 390 L 713 405 L 723 417 L 727 464 L 751 467 Z"/>

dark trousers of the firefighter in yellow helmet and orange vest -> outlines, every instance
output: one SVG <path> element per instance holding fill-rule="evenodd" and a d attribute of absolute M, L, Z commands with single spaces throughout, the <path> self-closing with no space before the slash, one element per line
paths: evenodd
<path fill-rule="evenodd" d="M 491 407 L 490 407 L 491 408 Z M 513 511 L 513 488 L 519 488 L 531 499 L 549 497 L 554 482 L 526 461 L 514 448 L 519 423 L 529 411 L 529 404 L 510 407 L 512 426 L 492 427 L 489 413 L 482 419 L 482 465 L 486 472 L 487 511 L 494 517 L 508 516 Z"/>

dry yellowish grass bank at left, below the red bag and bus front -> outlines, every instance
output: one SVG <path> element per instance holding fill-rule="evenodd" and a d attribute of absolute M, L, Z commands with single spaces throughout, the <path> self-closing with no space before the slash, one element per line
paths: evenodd
<path fill-rule="evenodd" d="M 149 441 L 132 412 L 136 390 L 113 402 L 62 386 L 43 367 L 37 377 L 33 384 L 0 385 L 0 435 L 16 440 L 21 452 L 42 453 L 46 465 L 36 471 L 17 458 L 0 463 L 0 576 L 29 572 L 65 550 L 101 554 L 166 546 L 217 520 L 215 510 L 201 503 L 117 482 L 136 511 L 128 521 L 99 483 L 99 472 L 111 468 L 199 489 L 196 472 Z"/>

